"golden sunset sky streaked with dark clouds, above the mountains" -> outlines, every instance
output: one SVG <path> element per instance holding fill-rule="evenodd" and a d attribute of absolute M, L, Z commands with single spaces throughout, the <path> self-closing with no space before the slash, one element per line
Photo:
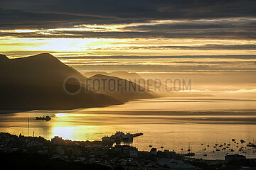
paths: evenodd
<path fill-rule="evenodd" d="M 255 84 L 255 5 L 2 0 L 0 51 L 10 58 L 50 52 L 80 71 L 225 73 L 218 81 L 231 75 Z"/>

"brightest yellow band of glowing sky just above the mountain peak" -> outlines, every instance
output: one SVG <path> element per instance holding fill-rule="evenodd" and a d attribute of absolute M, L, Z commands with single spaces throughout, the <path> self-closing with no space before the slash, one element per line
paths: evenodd
<path fill-rule="evenodd" d="M 189 34 L 192 30 L 178 30 L 172 26 L 183 26 L 182 24 L 212 24 L 212 23 L 230 23 L 235 21 L 239 24 L 242 21 L 255 21 L 254 18 L 223 18 L 218 20 L 192 20 L 175 21 L 159 20 L 149 21 L 147 23 L 124 23 L 124 24 L 106 24 L 90 25 L 81 24 L 70 28 L 45 28 L 45 29 L 14 29 L 0 30 L 0 51 L 9 55 L 11 52 L 16 57 L 31 55 L 40 52 L 51 52 L 65 55 L 68 52 L 72 55 L 140 55 L 140 56 L 158 56 L 158 55 L 256 55 L 253 48 L 256 41 L 246 38 L 165 38 L 162 35 L 159 38 L 140 37 L 140 32 L 149 33 L 147 29 L 165 28 L 163 33 Z M 178 24 L 178 25 L 175 25 Z M 193 25 L 192 24 L 192 25 Z M 169 29 L 170 26 L 170 29 Z M 203 25 L 204 26 L 204 25 Z M 149 28 L 148 28 L 149 27 Z M 146 30 L 143 30 L 146 29 Z M 208 29 L 206 29 L 208 30 Z M 206 31 L 205 30 L 205 31 Z M 197 33 L 199 30 L 195 30 Z M 192 31 L 193 32 L 193 31 Z M 99 34 L 97 36 L 97 33 Z M 120 37 L 118 35 L 120 34 Z M 138 37 L 134 37 L 137 35 Z M 147 34 L 146 34 L 147 35 Z M 222 45 L 226 45 L 222 47 Z M 242 48 L 236 48 L 240 45 Z M 210 49 L 213 47 L 213 49 Z M 214 47 L 216 49 L 214 49 Z M 226 47 L 226 48 L 225 48 Z M 6 53 L 5 53 L 6 52 Z M 234 53 L 235 52 L 235 53 Z M 79 54 L 78 54 L 79 53 Z"/>

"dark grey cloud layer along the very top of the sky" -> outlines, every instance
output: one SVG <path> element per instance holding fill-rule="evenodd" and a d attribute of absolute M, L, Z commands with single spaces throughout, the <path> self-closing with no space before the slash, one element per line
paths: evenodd
<path fill-rule="evenodd" d="M 254 0 L 1 0 L 0 6 L 1 28 L 58 28 L 76 24 L 256 16 Z"/>

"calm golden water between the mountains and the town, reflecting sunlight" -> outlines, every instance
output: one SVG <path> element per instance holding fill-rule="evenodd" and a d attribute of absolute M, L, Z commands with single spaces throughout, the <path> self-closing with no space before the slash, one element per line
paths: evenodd
<path fill-rule="evenodd" d="M 35 116 L 43 115 L 50 115 L 52 120 L 35 120 Z M 215 144 L 230 143 L 230 148 L 238 152 L 247 144 L 241 145 L 240 140 L 256 141 L 256 100 L 252 98 L 154 98 L 106 108 L 2 113 L 0 131 L 27 135 L 28 117 L 29 135 L 34 131 L 48 140 L 55 135 L 70 140 L 101 140 L 117 130 L 144 132 L 132 144 L 139 150 L 149 151 L 149 145 L 153 145 L 182 152 L 190 146 L 196 157 L 208 154 L 205 159 L 224 159 L 228 150 L 213 153 Z M 233 138 L 239 141 L 239 147 L 231 141 Z M 252 150 L 239 153 L 256 157 Z"/>

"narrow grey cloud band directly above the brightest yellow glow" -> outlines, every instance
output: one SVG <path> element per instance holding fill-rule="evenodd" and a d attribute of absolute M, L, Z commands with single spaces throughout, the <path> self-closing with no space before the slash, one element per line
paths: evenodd
<path fill-rule="evenodd" d="M 244 30 L 185 30 L 185 31 L 75 31 L 57 30 L 48 35 L 38 33 L 9 33 L 1 32 L 0 36 L 16 38 L 208 38 L 230 40 L 254 40 L 255 31 Z"/>

